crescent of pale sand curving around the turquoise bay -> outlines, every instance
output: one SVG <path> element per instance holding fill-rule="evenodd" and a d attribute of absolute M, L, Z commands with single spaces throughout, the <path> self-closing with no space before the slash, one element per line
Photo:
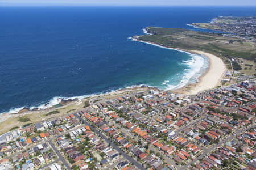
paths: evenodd
<path fill-rule="evenodd" d="M 192 53 L 208 57 L 210 61 L 209 68 L 205 74 L 200 76 L 198 83 L 188 84 L 183 88 L 175 90 L 175 92 L 185 95 L 196 95 L 201 91 L 219 86 L 221 84 L 221 78 L 227 70 L 224 62 L 217 56 L 203 51 L 193 50 Z"/>

